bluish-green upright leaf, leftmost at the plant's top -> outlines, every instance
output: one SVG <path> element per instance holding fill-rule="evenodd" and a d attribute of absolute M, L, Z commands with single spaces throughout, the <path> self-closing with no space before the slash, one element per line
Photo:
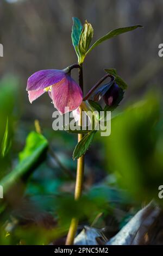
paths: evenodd
<path fill-rule="evenodd" d="M 71 39 L 72 39 L 74 50 L 76 51 L 77 56 L 79 57 L 78 42 L 80 39 L 80 34 L 82 33 L 83 25 L 77 17 L 73 17 L 72 20 L 73 20 L 73 25 L 72 25 Z"/>

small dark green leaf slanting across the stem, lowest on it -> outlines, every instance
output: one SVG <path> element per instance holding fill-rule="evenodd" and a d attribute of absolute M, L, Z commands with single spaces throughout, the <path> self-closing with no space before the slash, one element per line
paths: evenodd
<path fill-rule="evenodd" d="M 86 153 L 86 150 L 90 147 L 92 139 L 95 136 L 96 131 L 91 131 L 83 137 L 83 139 L 76 145 L 73 151 L 73 160 L 78 159 Z"/>

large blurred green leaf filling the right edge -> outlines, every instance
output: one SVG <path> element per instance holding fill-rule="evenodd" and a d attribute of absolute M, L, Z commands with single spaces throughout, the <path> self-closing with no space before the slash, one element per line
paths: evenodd
<path fill-rule="evenodd" d="M 105 139 L 108 169 L 137 200 L 158 200 L 163 180 L 163 127 L 160 97 L 145 99 L 112 119 L 111 136 Z"/>

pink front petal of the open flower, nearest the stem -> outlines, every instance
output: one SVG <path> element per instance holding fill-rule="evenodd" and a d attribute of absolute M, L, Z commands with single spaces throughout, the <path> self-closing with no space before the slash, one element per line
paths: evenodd
<path fill-rule="evenodd" d="M 52 86 L 54 107 L 61 114 L 77 109 L 83 100 L 83 93 L 78 84 L 68 75 Z M 65 109 L 67 108 L 67 109 Z"/>

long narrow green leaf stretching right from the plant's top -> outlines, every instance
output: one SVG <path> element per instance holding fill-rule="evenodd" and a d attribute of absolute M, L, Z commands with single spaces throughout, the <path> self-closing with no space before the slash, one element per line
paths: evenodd
<path fill-rule="evenodd" d="M 135 25 L 135 26 L 131 26 L 131 27 L 124 27 L 124 28 L 117 28 L 114 29 L 112 31 L 110 31 L 108 34 L 102 36 L 102 38 L 99 38 L 87 51 L 87 53 L 89 53 L 91 50 L 93 50 L 93 48 L 95 48 L 97 45 L 101 44 L 103 41 L 108 40 L 110 38 L 113 38 L 116 35 L 120 35 L 129 31 L 133 31 L 136 28 L 142 27 L 141 25 Z M 86 54 L 87 54 L 86 53 Z"/>

